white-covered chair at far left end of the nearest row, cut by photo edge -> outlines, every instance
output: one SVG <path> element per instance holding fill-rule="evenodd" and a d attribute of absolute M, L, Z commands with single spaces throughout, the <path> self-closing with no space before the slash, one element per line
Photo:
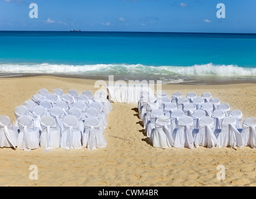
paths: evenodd
<path fill-rule="evenodd" d="M 0 116 L 0 147 L 17 146 L 17 131 L 12 131 L 12 121 L 8 116 Z"/>

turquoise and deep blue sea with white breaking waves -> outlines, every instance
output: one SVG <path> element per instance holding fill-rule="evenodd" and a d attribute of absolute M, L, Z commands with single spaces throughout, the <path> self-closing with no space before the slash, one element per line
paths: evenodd
<path fill-rule="evenodd" d="M 0 31 L 0 75 L 255 81 L 256 34 Z"/>

